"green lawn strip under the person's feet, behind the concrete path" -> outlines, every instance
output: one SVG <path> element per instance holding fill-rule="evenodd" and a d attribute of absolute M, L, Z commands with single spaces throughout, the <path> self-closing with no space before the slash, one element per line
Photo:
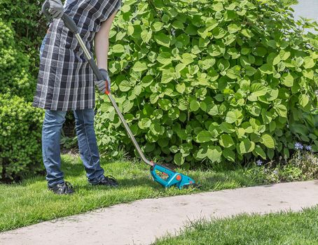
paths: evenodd
<path fill-rule="evenodd" d="M 90 186 L 80 158 L 62 156 L 66 181 L 76 189 L 72 196 L 59 196 L 47 190 L 44 176 L 27 179 L 20 184 L 0 185 L 0 231 L 53 220 L 114 204 L 144 198 L 185 195 L 210 190 L 255 186 L 251 174 L 244 169 L 213 171 L 181 171 L 202 184 L 200 190 L 165 189 L 153 182 L 149 167 L 141 162 L 103 162 L 106 173 L 118 179 L 120 188 Z"/>

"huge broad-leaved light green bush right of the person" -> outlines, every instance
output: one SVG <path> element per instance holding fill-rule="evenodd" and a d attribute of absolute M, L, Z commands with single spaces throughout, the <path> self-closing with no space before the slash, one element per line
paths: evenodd
<path fill-rule="evenodd" d="M 280 1 L 125 1 L 109 71 L 146 155 L 190 167 L 289 158 L 295 141 L 317 151 L 318 38 L 306 25 Z M 106 95 L 97 109 L 102 151 L 132 148 Z"/>

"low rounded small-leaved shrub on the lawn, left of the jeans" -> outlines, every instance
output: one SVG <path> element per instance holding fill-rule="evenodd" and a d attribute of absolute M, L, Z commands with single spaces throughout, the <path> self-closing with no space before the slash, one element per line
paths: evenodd
<path fill-rule="evenodd" d="M 30 102 L 0 94 L 0 181 L 36 174 L 41 165 L 43 111 Z"/>

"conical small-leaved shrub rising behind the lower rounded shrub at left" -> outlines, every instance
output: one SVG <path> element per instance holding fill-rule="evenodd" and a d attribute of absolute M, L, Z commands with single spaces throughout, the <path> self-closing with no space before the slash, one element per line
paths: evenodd
<path fill-rule="evenodd" d="M 0 93 L 18 95 L 31 102 L 36 80 L 29 71 L 29 55 L 15 41 L 15 33 L 0 21 Z"/>

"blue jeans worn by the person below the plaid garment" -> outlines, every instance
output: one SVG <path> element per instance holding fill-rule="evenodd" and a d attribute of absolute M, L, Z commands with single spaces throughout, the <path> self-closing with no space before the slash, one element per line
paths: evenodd
<path fill-rule="evenodd" d="M 49 187 L 64 182 L 64 174 L 61 170 L 60 137 L 66 113 L 66 111 L 46 110 L 43 121 L 42 154 Z M 75 110 L 74 116 L 81 160 L 88 182 L 95 184 L 104 178 L 104 169 L 99 165 L 99 152 L 94 130 L 95 112 L 93 109 Z"/>

